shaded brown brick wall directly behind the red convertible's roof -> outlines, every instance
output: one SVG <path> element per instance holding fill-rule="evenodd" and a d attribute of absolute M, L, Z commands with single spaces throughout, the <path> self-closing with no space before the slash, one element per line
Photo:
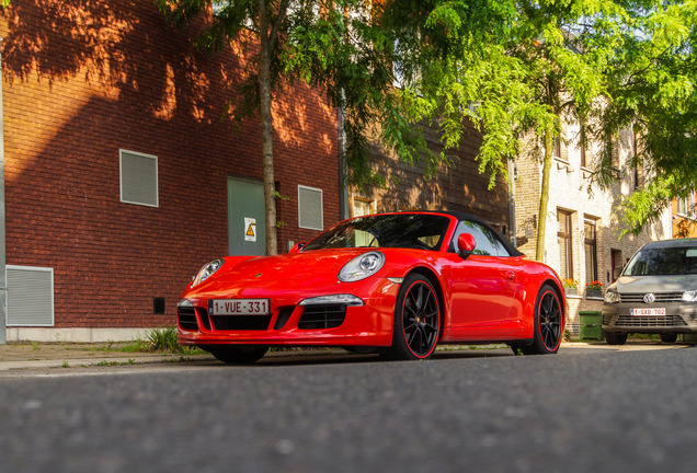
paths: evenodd
<path fill-rule="evenodd" d="M 424 127 L 429 148 L 439 153 L 443 145 L 435 129 Z M 425 176 L 423 163 L 410 165 L 389 151 L 375 146 L 372 162 L 387 181 L 384 188 L 353 188 L 350 205 L 356 215 L 356 203 L 372 203 L 370 211 L 450 210 L 480 217 L 491 222 L 510 238 L 509 188 L 499 175 L 489 189 L 489 175 L 480 174 L 476 160 L 481 135 L 471 125 L 467 127 L 462 145 L 450 165 L 441 163 L 433 177 Z"/>

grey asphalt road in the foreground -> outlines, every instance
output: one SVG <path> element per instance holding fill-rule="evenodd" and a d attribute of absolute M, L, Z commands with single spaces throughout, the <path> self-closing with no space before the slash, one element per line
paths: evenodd
<path fill-rule="evenodd" d="M 0 379 L 1 472 L 692 472 L 697 349 Z"/>

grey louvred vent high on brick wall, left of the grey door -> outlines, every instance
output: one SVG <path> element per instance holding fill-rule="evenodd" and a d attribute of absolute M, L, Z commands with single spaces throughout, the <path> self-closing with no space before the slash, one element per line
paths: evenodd
<path fill-rule="evenodd" d="M 119 150 L 121 201 L 158 207 L 158 157 Z"/>

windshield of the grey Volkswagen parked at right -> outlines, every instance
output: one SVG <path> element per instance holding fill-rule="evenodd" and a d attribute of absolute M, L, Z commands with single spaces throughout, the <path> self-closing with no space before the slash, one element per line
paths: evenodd
<path fill-rule="evenodd" d="M 697 274 L 697 247 L 641 250 L 625 269 L 625 276 L 685 274 Z"/>

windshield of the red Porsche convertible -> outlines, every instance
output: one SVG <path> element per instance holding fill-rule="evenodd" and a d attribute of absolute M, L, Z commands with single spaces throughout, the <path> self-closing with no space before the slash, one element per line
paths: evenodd
<path fill-rule="evenodd" d="M 358 217 L 332 227 L 304 250 L 368 246 L 437 251 L 449 223 L 447 217 L 426 214 Z"/>

